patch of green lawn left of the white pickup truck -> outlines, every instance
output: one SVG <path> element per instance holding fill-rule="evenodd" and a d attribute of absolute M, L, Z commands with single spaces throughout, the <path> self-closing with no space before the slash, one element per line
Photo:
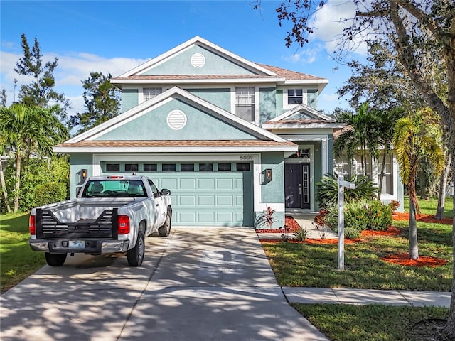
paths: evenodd
<path fill-rule="evenodd" d="M 0 291 L 3 293 L 45 264 L 28 245 L 28 213 L 0 215 Z"/>

